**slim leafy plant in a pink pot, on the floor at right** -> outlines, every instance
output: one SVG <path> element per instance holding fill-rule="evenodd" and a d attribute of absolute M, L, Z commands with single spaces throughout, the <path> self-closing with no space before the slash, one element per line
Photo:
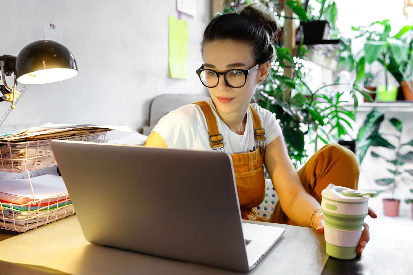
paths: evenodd
<path fill-rule="evenodd" d="M 399 215 L 400 200 L 394 198 L 394 191 L 397 188 L 399 176 L 404 173 L 408 173 L 413 176 L 413 170 L 404 170 L 401 168 L 406 163 L 413 163 L 413 152 L 401 154 L 400 151 L 402 148 L 404 148 L 404 146 L 413 145 L 413 140 L 408 143 L 401 144 L 403 122 L 401 122 L 397 118 L 391 118 L 389 121 L 396 128 L 396 131 L 398 133 L 395 135 L 397 138 L 397 146 L 393 146 L 394 157 L 391 159 L 388 159 L 386 157 L 383 157 L 375 153 L 374 151 L 371 151 L 371 155 L 373 157 L 376 157 L 376 158 L 380 157 L 386 160 L 387 162 L 391 163 L 392 166 L 394 167 L 394 168 L 387 168 L 387 171 L 389 171 L 392 174 L 392 177 L 385 177 L 382 179 L 377 179 L 375 181 L 380 186 L 390 186 L 389 189 L 392 190 L 392 197 L 383 199 L 383 205 L 384 205 L 385 216 L 394 217 L 394 216 Z"/>

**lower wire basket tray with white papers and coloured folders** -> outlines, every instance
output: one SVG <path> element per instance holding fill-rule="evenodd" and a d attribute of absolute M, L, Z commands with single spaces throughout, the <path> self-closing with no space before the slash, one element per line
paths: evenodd
<path fill-rule="evenodd" d="M 24 232 L 74 213 L 61 176 L 45 174 L 31 181 L 35 203 L 28 179 L 0 181 L 0 228 Z"/>

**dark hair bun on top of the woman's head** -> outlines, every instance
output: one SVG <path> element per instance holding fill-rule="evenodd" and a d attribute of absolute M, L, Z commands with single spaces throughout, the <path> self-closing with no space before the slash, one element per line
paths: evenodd
<path fill-rule="evenodd" d="M 237 11 L 237 14 L 248 17 L 252 21 L 255 21 L 263 26 L 263 28 L 268 31 L 271 37 L 273 37 L 279 31 L 279 27 L 277 21 L 275 21 L 274 19 L 274 15 L 261 5 L 251 4 L 242 6 Z"/>

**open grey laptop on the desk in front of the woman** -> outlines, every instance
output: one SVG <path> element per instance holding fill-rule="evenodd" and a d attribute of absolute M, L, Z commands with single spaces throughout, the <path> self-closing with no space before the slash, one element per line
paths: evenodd
<path fill-rule="evenodd" d="M 86 240 L 246 272 L 284 228 L 243 223 L 230 155 L 52 141 Z"/>

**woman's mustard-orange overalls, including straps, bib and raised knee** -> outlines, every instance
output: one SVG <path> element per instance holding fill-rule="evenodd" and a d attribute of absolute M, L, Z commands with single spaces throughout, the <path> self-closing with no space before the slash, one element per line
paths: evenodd
<path fill-rule="evenodd" d="M 218 131 L 211 107 L 205 101 L 199 101 L 195 104 L 201 106 L 207 118 L 211 148 L 223 147 L 222 136 Z M 256 110 L 251 105 L 249 110 L 254 124 L 254 139 L 259 146 L 256 146 L 257 148 L 252 152 L 231 154 L 231 157 L 234 165 L 242 219 L 267 221 L 266 218 L 259 216 L 256 210 L 256 207 L 264 200 L 266 191 L 263 172 L 265 131 L 261 128 L 261 121 Z M 349 149 L 331 143 L 314 153 L 299 170 L 298 176 L 304 190 L 314 197 L 318 203 L 321 203 L 321 191 L 329 183 L 357 190 L 358 163 L 354 153 Z M 275 204 L 274 211 L 268 221 L 295 225 L 282 210 L 280 201 Z"/>

